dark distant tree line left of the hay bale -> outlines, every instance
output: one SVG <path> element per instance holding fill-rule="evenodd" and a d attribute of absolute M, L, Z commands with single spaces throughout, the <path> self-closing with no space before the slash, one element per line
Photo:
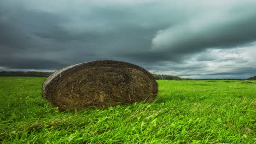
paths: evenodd
<path fill-rule="evenodd" d="M 51 72 L 39 72 L 39 71 L 0 71 L 0 76 L 36 76 L 36 77 L 48 77 Z"/>

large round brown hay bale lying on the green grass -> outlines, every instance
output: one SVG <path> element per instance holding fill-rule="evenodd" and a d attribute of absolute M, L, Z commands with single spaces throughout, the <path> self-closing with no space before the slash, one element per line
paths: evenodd
<path fill-rule="evenodd" d="M 43 98 L 61 110 L 153 100 L 158 84 L 137 65 L 94 61 L 57 70 L 42 86 Z"/>

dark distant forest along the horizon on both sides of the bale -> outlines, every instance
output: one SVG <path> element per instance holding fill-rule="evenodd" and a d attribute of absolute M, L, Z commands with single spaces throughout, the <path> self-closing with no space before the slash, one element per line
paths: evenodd
<path fill-rule="evenodd" d="M 40 71 L 0 71 L 0 76 L 36 76 L 36 77 L 48 77 L 52 72 L 40 72 Z M 157 75 L 153 74 L 156 80 L 245 80 L 245 79 L 188 79 L 181 78 L 174 75 Z M 247 80 L 256 80 L 256 76 L 250 77 Z"/>

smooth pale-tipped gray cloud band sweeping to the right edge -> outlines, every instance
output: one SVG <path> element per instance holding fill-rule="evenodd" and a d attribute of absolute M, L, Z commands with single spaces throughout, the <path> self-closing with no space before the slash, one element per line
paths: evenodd
<path fill-rule="evenodd" d="M 210 47 L 230 48 L 252 42 L 256 38 L 256 20 L 252 13 L 244 19 L 230 20 L 225 23 L 206 23 L 210 26 L 193 24 L 177 26 L 158 32 L 153 39 L 153 50 L 169 50 L 184 53 L 201 51 Z M 214 25 L 215 24 L 215 25 Z M 213 26 L 211 26 L 213 25 Z"/>

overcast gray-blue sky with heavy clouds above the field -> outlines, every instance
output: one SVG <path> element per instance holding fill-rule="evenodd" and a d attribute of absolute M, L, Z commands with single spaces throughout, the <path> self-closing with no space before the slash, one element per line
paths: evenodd
<path fill-rule="evenodd" d="M 255 0 L 1 0 L 0 71 L 112 59 L 189 78 L 256 75 Z"/>

